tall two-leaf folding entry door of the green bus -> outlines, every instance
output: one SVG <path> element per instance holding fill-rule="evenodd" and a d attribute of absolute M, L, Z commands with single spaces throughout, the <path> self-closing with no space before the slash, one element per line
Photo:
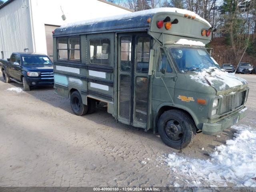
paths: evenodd
<path fill-rule="evenodd" d="M 150 41 L 143 33 L 118 36 L 118 120 L 141 128 L 148 118 Z"/>

